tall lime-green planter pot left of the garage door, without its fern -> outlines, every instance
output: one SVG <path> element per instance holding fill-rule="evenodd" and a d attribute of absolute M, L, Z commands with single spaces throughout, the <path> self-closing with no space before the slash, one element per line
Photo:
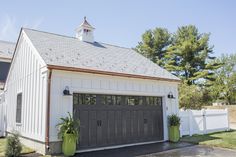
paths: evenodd
<path fill-rule="evenodd" d="M 74 134 L 64 134 L 62 152 L 65 156 L 73 156 L 76 151 L 76 138 Z"/>

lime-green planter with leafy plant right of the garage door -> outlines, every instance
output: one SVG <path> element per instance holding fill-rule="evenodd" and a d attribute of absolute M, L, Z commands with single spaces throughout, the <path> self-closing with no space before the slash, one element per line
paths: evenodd
<path fill-rule="evenodd" d="M 169 122 L 169 140 L 171 142 L 178 142 L 180 139 L 180 117 L 176 114 L 168 116 Z"/>

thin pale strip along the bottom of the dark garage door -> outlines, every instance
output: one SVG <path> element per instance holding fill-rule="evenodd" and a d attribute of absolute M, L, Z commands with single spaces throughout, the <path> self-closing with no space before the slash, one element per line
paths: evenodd
<path fill-rule="evenodd" d="M 165 140 L 151 141 L 151 142 L 140 142 L 140 143 L 132 143 L 132 144 L 123 144 L 123 145 L 100 147 L 100 148 L 91 148 L 91 149 L 84 149 L 84 150 L 76 150 L 76 153 L 93 152 L 93 151 L 99 151 L 99 150 L 116 149 L 116 148 L 123 148 L 123 147 L 137 146 L 137 145 L 161 143 L 161 142 L 165 142 Z"/>

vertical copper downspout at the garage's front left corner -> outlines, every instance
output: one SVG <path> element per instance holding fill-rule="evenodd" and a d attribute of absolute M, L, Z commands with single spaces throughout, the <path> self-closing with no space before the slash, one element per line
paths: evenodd
<path fill-rule="evenodd" d="M 49 127 L 50 127 L 50 95 L 51 95 L 51 77 L 52 69 L 49 69 L 49 75 L 47 80 L 47 108 L 46 108 L 46 138 L 45 138 L 45 147 L 46 150 L 50 150 L 49 146 Z"/>

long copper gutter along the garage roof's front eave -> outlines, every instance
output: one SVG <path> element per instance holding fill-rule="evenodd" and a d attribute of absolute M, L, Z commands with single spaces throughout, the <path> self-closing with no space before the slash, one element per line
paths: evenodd
<path fill-rule="evenodd" d="M 129 78 L 131 77 L 131 78 L 158 80 L 158 81 L 165 81 L 165 82 L 176 82 L 176 83 L 181 82 L 181 80 L 177 80 L 177 79 L 152 77 L 152 76 L 144 76 L 144 75 L 136 75 L 136 74 L 126 74 L 126 73 L 119 73 L 119 72 L 84 69 L 84 68 L 76 68 L 76 67 L 65 67 L 65 66 L 50 65 L 50 64 L 47 65 L 47 68 L 54 69 L 54 70 L 62 70 L 62 71 L 84 72 L 84 73 L 90 73 L 90 74 L 101 74 L 101 75 L 120 76 L 120 77 L 129 77 Z"/>

